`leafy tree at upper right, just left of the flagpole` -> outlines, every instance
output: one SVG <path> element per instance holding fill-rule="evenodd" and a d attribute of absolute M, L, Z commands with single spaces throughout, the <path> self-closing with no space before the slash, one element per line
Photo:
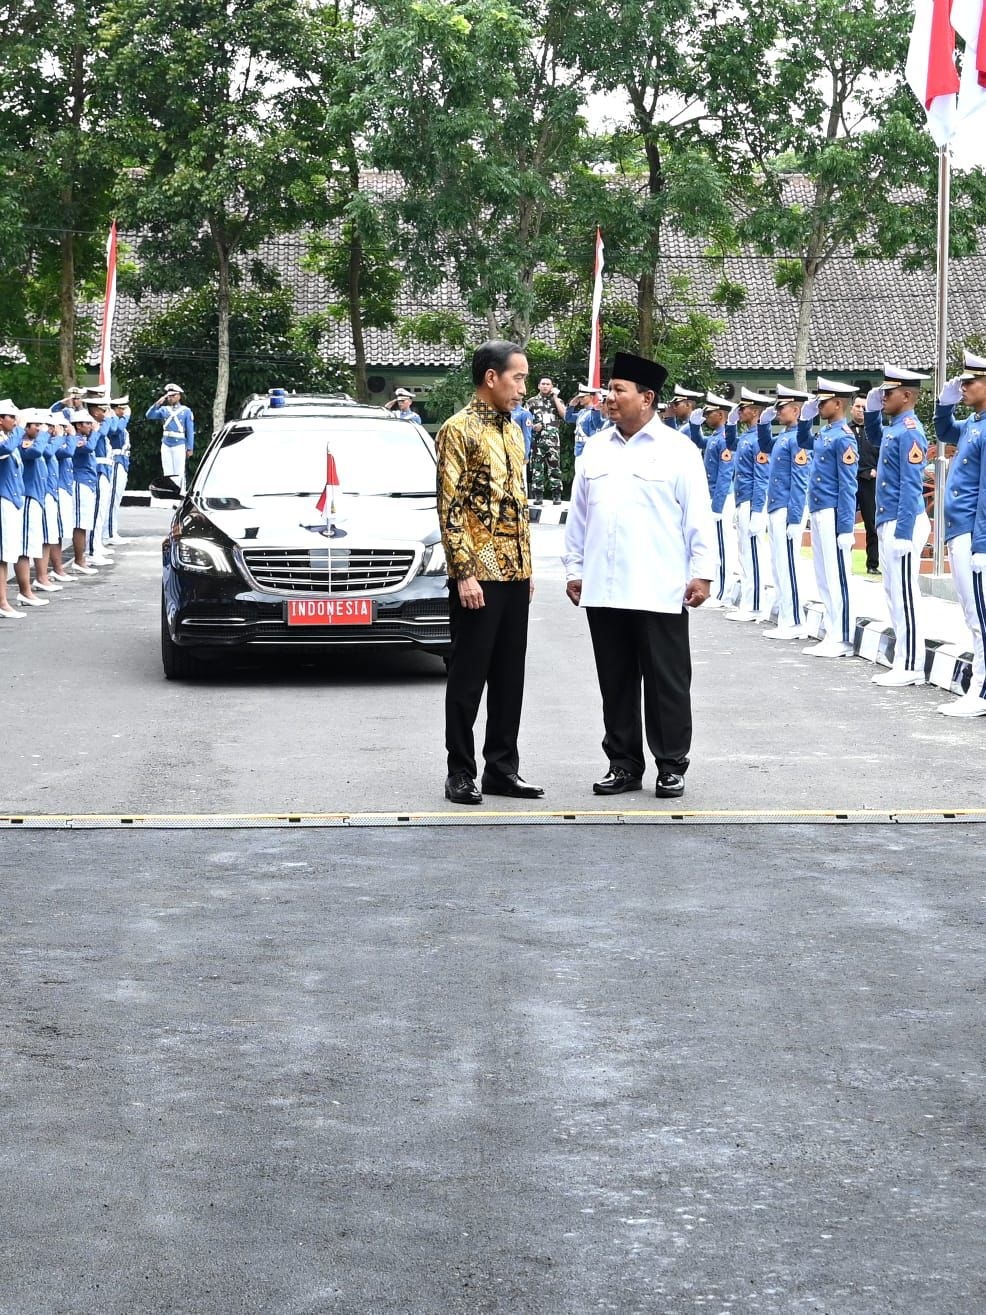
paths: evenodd
<path fill-rule="evenodd" d="M 903 85 L 911 0 L 710 4 L 690 60 L 692 88 L 722 125 L 740 235 L 778 258 L 798 302 L 795 385 L 806 385 L 819 274 L 836 256 L 935 251 L 936 149 Z M 953 251 L 975 246 L 982 176 L 957 179 Z"/>

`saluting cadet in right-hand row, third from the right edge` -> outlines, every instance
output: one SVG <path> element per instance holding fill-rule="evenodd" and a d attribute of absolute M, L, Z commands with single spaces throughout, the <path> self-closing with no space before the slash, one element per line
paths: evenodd
<path fill-rule="evenodd" d="M 845 416 L 855 396 L 851 384 L 819 375 L 815 396 L 805 402 L 798 421 L 798 446 L 814 454 L 809 480 L 811 556 L 826 614 L 822 643 L 802 648 L 815 658 L 845 658 L 852 652 L 849 554 L 856 523 L 858 450 Z M 822 427 L 812 435 L 811 422 L 816 416 Z"/>

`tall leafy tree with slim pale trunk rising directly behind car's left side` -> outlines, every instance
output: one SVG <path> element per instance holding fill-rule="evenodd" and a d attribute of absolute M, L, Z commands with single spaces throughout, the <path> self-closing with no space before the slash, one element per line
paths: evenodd
<path fill-rule="evenodd" d="M 147 285 L 214 287 L 216 427 L 245 258 L 304 214 L 308 156 L 291 126 L 281 59 L 301 33 L 284 0 L 109 0 L 105 11 L 113 128 L 134 164 L 120 208 L 142 230 Z"/>

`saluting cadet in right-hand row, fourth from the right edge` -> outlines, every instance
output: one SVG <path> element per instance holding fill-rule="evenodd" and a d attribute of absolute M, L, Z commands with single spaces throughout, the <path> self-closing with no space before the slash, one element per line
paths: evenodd
<path fill-rule="evenodd" d="M 777 385 L 777 401 L 761 413 L 757 442 L 768 456 L 766 521 L 777 594 L 777 625 L 765 630 L 768 639 L 805 639 L 802 629 L 799 569 L 801 540 L 809 512 L 811 454 L 798 446 L 798 417 L 807 393 Z M 772 421 L 781 426 L 774 438 Z"/>

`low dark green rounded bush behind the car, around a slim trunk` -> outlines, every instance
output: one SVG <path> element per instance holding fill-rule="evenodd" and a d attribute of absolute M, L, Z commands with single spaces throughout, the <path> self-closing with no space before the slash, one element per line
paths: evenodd
<path fill-rule="evenodd" d="M 160 425 L 143 416 L 160 396 L 166 380 L 174 377 L 185 389 L 196 414 L 196 451 L 205 447 L 212 433 L 217 318 L 212 289 L 201 288 L 142 325 L 126 355 L 117 362 L 113 387 L 130 393 L 133 409 L 130 483 L 135 488 L 146 488 L 159 468 Z M 235 291 L 230 306 L 230 405 L 225 418 L 235 414 L 251 393 L 266 393 L 268 388 L 348 389 L 347 368 L 340 362 L 323 360 L 317 338 L 317 326 L 294 317 L 287 292 Z"/>

